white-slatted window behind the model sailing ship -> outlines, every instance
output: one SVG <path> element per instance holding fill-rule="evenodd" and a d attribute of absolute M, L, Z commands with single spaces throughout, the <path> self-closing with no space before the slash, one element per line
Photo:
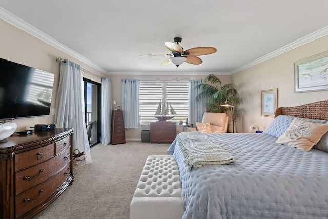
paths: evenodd
<path fill-rule="evenodd" d="M 159 103 L 164 99 L 169 101 L 177 113 L 171 121 L 186 121 L 188 117 L 188 86 L 189 82 L 186 81 L 140 81 L 141 124 L 157 121 L 154 115 Z"/>

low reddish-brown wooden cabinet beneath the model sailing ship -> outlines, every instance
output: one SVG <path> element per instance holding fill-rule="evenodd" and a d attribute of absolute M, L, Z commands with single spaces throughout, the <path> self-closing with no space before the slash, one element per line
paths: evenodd
<path fill-rule="evenodd" d="M 172 143 L 176 137 L 175 122 L 151 122 L 150 142 L 151 143 Z"/>

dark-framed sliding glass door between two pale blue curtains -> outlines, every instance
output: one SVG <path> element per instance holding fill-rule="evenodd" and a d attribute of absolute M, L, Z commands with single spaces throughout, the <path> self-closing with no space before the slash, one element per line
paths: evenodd
<path fill-rule="evenodd" d="M 83 78 L 85 119 L 90 147 L 100 142 L 101 133 L 101 84 Z"/>

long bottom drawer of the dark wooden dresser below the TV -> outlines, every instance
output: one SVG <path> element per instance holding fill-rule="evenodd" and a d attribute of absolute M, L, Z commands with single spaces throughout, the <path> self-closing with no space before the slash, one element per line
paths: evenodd
<path fill-rule="evenodd" d="M 25 212 L 37 207 L 42 202 L 49 198 L 56 190 L 64 185 L 64 182 L 70 175 L 70 165 L 67 165 L 60 170 L 56 175 L 49 180 L 39 184 L 15 197 L 16 217 L 22 217 Z"/>

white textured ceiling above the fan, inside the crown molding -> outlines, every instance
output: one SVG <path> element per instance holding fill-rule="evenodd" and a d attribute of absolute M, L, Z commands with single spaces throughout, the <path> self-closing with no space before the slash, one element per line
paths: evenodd
<path fill-rule="evenodd" d="M 327 26 L 327 0 L 1 1 L 0 7 L 111 72 L 174 72 L 165 42 L 215 47 L 179 72 L 232 72 Z M 65 57 L 63 57 L 65 58 Z"/>

